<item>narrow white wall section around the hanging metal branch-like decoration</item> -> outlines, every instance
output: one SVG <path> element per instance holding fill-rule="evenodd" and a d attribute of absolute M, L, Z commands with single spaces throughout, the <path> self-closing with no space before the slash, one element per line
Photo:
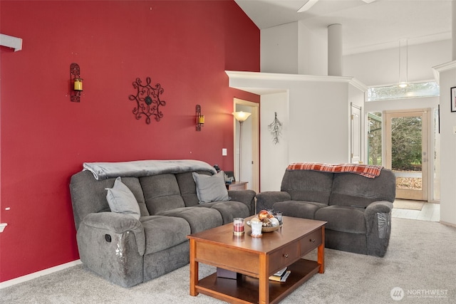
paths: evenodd
<path fill-rule="evenodd" d="M 261 192 L 280 191 L 282 177 L 289 165 L 289 103 L 288 92 L 261 95 Z M 268 125 L 274 120 L 274 112 L 282 123 L 279 142 L 274 145 Z M 266 160 L 269 159 L 269 160 Z M 271 159 L 273 159 L 271 161 Z"/>

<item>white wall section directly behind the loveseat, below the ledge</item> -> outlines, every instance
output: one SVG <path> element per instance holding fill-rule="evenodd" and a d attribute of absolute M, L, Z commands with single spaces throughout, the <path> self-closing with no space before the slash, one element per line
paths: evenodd
<path fill-rule="evenodd" d="M 289 162 L 348 162 L 346 83 L 300 83 L 290 90 L 289 107 Z"/>

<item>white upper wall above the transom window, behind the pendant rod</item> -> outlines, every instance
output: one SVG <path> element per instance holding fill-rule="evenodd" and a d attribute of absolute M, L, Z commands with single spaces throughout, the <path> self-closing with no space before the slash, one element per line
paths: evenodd
<path fill-rule="evenodd" d="M 451 59 L 451 41 L 435 41 L 408 46 L 408 81 L 432 80 L 432 67 Z M 343 75 L 365 85 L 389 85 L 399 82 L 398 48 L 343 56 Z"/>

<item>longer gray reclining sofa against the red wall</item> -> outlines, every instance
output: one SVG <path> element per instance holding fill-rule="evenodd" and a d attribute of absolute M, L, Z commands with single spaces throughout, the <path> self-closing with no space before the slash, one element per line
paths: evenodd
<path fill-rule="evenodd" d="M 106 164 L 111 165 L 103 163 L 74 174 L 70 192 L 81 261 L 118 285 L 130 287 L 184 266 L 189 263 L 188 234 L 254 214 L 252 190 L 229 191 L 224 201 L 200 204 L 193 172 L 200 178 L 217 175 L 204 162 L 135 162 L 133 170 L 129 162 L 112 163 L 114 169 L 104 174 Z M 117 164 L 128 169 L 118 170 Z M 144 165 L 152 169 L 143 170 Z M 138 214 L 111 211 L 107 193 L 118 199 L 120 192 L 113 190 L 118 189 L 116 183 L 128 187 L 122 193 L 134 196 L 133 209 Z"/>

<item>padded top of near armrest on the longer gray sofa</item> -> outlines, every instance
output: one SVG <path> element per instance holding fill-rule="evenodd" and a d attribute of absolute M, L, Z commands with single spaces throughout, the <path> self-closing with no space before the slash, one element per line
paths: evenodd
<path fill-rule="evenodd" d="M 115 212 L 100 212 L 88 214 L 84 217 L 82 223 L 87 227 L 105 230 L 113 234 L 124 234 L 131 231 L 136 239 L 138 253 L 140 256 L 143 256 L 145 253 L 144 227 L 133 216 Z"/>

